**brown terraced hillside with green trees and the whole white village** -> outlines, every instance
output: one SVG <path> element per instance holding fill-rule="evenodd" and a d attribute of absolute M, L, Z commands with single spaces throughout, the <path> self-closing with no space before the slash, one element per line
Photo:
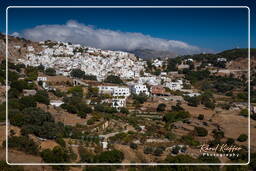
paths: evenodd
<path fill-rule="evenodd" d="M 172 163 L 179 157 L 185 162 L 247 162 L 248 59 L 243 49 L 143 60 L 66 42 L 20 42 L 10 43 L 19 55 L 8 64 L 12 156 L 22 152 L 46 163 Z M 3 92 L 4 77 L 2 60 Z M 5 109 L 4 97 L 1 102 Z M 255 103 L 253 93 L 253 134 Z M 213 157 L 200 153 L 202 144 L 242 150 L 237 158 Z M 255 152 L 256 144 L 251 147 Z M 53 159 L 58 151 L 65 156 Z M 16 157 L 10 160 L 21 160 Z"/>

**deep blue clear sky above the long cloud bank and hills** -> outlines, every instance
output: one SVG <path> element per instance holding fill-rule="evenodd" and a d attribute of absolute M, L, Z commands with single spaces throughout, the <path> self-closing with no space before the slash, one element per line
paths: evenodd
<path fill-rule="evenodd" d="M 236 2 L 235 2 L 236 1 Z M 238 1 L 235 0 L 235 5 Z M 37 1 L 38 2 L 38 1 Z M 146 2 L 146 1 L 144 1 Z M 147 1 L 149 2 L 149 1 Z M 179 5 L 139 3 L 140 5 Z M 191 1 L 187 4 L 191 5 Z M 222 1 L 227 5 L 230 1 Z M 67 2 L 65 2 L 67 3 Z M 80 2 L 79 2 L 80 3 Z M 114 2 L 113 2 L 114 3 Z M 97 5 L 113 5 L 113 3 Z M 195 5 L 198 2 L 195 1 Z M 54 1 L 54 5 L 58 4 Z M 74 5 L 78 4 L 75 1 Z M 88 1 L 88 4 L 92 2 Z M 81 4 L 81 5 L 88 5 Z M 12 4 L 16 5 L 16 4 Z M 22 4 L 23 5 L 23 4 Z M 34 5 L 38 5 L 34 4 Z M 42 4 L 45 5 L 45 4 Z M 61 4 L 64 5 L 64 4 Z M 116 4 L 131 5 L 131 4 Z M 137 5 L 136 3 L 134 5 Z M 183 3 L 182 5 L 186 5 Z M 211 5 L 210 1 L 208 4 Z M 220 4 L 222 5 L 222 4 Z M 234 4 L 230 4 L 234 5 Z M 239 4 L 247 5 L 247 4 Z M 254 9 L 253 9 L 254 10 Z M 252 11 L 252 10 L 251 10 Z M 254 11 L 252 13 L 254 15 Z M 235 47 L 247 47 L 247 9 L 10 9 L 9 33 L 33 29 L 38 25 L 65 25 L 75 20 L 94 29 L 123 33 L 141 33 L 153 38 L 178 40 L 203 50 L 219 52 Z M 1 31 L 4 29 L 1 27 Z M 253 39 L 253 38 L 252 38 Z M 254 41 L 254 39 L 252 40 Z M 252 45 L 253 47 L 253 45 Z"/>

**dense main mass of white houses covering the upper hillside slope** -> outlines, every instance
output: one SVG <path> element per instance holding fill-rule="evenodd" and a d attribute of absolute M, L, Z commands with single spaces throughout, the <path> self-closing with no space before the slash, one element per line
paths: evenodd
<path fill-rule="evenodd" d="M 72 69 L 79 68 L 88 75 L 95 75 L 102 81 L 109 74 L 123 79 L 133 79 L 144 71 L 145 61 L 134 54 L 122 51 L 101 50 L 81 45 L 55 42 L 49 45 L 40 42 L 43 50 L 35 53 L 32 46 L 27 47 L 27 55 L 18 62 L 30 66 L 43 65 L 54 68 L 57 74 L 69 76 Z"/>

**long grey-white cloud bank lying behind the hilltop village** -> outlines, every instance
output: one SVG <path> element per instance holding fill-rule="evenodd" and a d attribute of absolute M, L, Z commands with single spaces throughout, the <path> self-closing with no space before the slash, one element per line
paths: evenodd
<path fill-rule="evenodd" d="M 178 40 L 165 40 L 142 33 L 94 28 L 74 20 L 64 25 L 39 25 L 24 30 L 21 36 L 33 41 L 55 40 L 79 43 L 102 49 L 151 49 L 177 54 L 198 53 L 201 49 Z"/>

